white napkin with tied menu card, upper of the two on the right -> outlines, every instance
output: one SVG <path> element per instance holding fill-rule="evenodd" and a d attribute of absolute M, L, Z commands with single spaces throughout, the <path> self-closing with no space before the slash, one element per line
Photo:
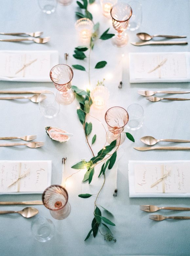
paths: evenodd
<path fill-rule="evenodd" d="M 190 81 L 190 53 L 130 53 L 130 82 Z"/>

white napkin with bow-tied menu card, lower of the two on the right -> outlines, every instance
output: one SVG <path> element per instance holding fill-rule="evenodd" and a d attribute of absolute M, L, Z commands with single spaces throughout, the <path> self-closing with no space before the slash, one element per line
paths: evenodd
<path fill-rule="evenodd" d="M 129 161 L 130 197 L 190 197 L 190 161 Z"/>

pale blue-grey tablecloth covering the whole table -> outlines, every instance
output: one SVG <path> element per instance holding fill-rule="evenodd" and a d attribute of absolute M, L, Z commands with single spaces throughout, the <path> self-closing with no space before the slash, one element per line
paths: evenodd
<path fill-rule="evenodd" d="M 68 65 L 80 64 L 72 57 L 74 47 L 78 46 L 78 38 L 74 23 L 76 2 L 70 6 L 57 6 L 55 13 L 47 15 L 41 12 L 37 1 L 1 1 L 0 21 L 3 32 L 34 32 L 44 31 L 50 36 L 47 44 L 1 42 L 1 50 L 58 50 L 60 63 L 64 62 L 64 53 L 69 53 Z M 137 41 L 136 33 L 187 35 L 190 36 L 189 1 L 183 0 L 142 0 L 143 21 L 135 31 L 128 31 L 129 42 Z M 98 0 L 96 5 L 89 7 L 94 22 L 100 22 L 100 34 L 108 27 L 114 32 L 111 21 L 101 13 Z M 6 38 L 1 36 L 1 38 Z M 118 161 L 118 196 L 113 197 L 115 188 L 114 170 L 107 172 L 104 191 L 98 203 L 114 213 L 112 219 L 116 226 L 111 227 L 116 243 L 106 242 L 99 233 L 96 238 L 91 235 L 84 239 L 91 229 L 93 219 L 94 198 L 79 198 L 78 194 L 90 191 L 90 186 L 99 189 L 99 183 L 82 185 L 84 172 L 68 179 L 66 189 L 69 195 L 71 213 L 65 220 L 55 220 L 43 205 L 37 205 L 39 214 L 53 221 L 56 234 L 47 243 L 36 241 L 31 234 L 32 219 L 18 215 L 2 215 L 0 222 L 1 255 L 189 255 L 190 229 L 189 221 L 151 221 L 148 213 L 139 210 L 140 204 L 162 206 L 188 206 L 189 198 L 129 198 L 128 192 L 128 160 L 189 160 L 188 151 L 136 151 L 133 146 L 143 146 L 139 140 L 142 136 L 152 135 L 156 138 L 189 139 L 190 112 L 189 101 L 151 103 L 137 94 L 138 89 L 189 89 L 190 83 L 148 83 L 130 84 L 128 73 L 129 52 L 184 52 L 189 51 L 189 44 L 184 46 L 144 46 L 136 47 L 128 43 L 123 48 L 112 46 L 110 40 L 98 40 L 92 52 L 92 67 L 100 60 L 106 60 L 104 69 L 91 71 L 91 84 L 106 78 L 105 85 L 110 91 L 106 108 L 120 105 L 125 109 L 132 103 L 138 103 L 144 109 L 144 125 L 141 129 L 131 132 L 135 143 L 125 140 L 120 150 L 123 156 Z M 122 74 L 121 55 L 124 54 Z M 82 62 L 81 62 L 82 63 Z M 87 66 L 87 61 L 85 63 Z M 112 74 L 112 78 L 110 77 Z M 122 89 L 118 89 L 119 81 L 123 81 Z M 85 89 L 88 84 L 87 73 L 74 70 L 73 85 Z M 0 81 L 0 89 L 27 90 L 48 89 L 56 92 L 51 82 L 5 82 Z M 90 159 L 91 154 L 85 143 L 82 125 L 76 114 L 77 102 L 63 106 L 58 116 L 47 119 L 41 115 L 38 105 L 28 101 L 1 101 L 1 136 L 36 134 L 38 141 L 45 141 L 39 149 L 2 147 L 1 160 L 52 160 L 52 184 L 60 184 L 62 177 L 62 157 L 67 157 L 64 176 L 75 172 L 71 166 L 81 159 Z M 91 114 L 104 123 L 105 111 L 97 111 L 91 107 Z M 99 151 L 105 142 L 104 128 L 93 118 L 93 132 L 97 134 L 94 151 Z M 49 139 L 45 132 L 46 126 L 64 128 L 74 134 L 66 143 L 56 143 Z M 126 130 L 127 131 L 127 130 Z M 164 144 L 164 143 L 163 143 Z M 183 145 L 183 144 L 181 144 Z M 1 200 L 37 200 L 41 195 L 1 195 Z M 1 206 L 1 209 L 18 210 L 22 206 Z M 160 214 L 162 214 L 160 212 Z M 169 215 L 189 216 L 189 212 L 164 212 Z M 187 226 L 188 225 L 188 226 Z"/>

